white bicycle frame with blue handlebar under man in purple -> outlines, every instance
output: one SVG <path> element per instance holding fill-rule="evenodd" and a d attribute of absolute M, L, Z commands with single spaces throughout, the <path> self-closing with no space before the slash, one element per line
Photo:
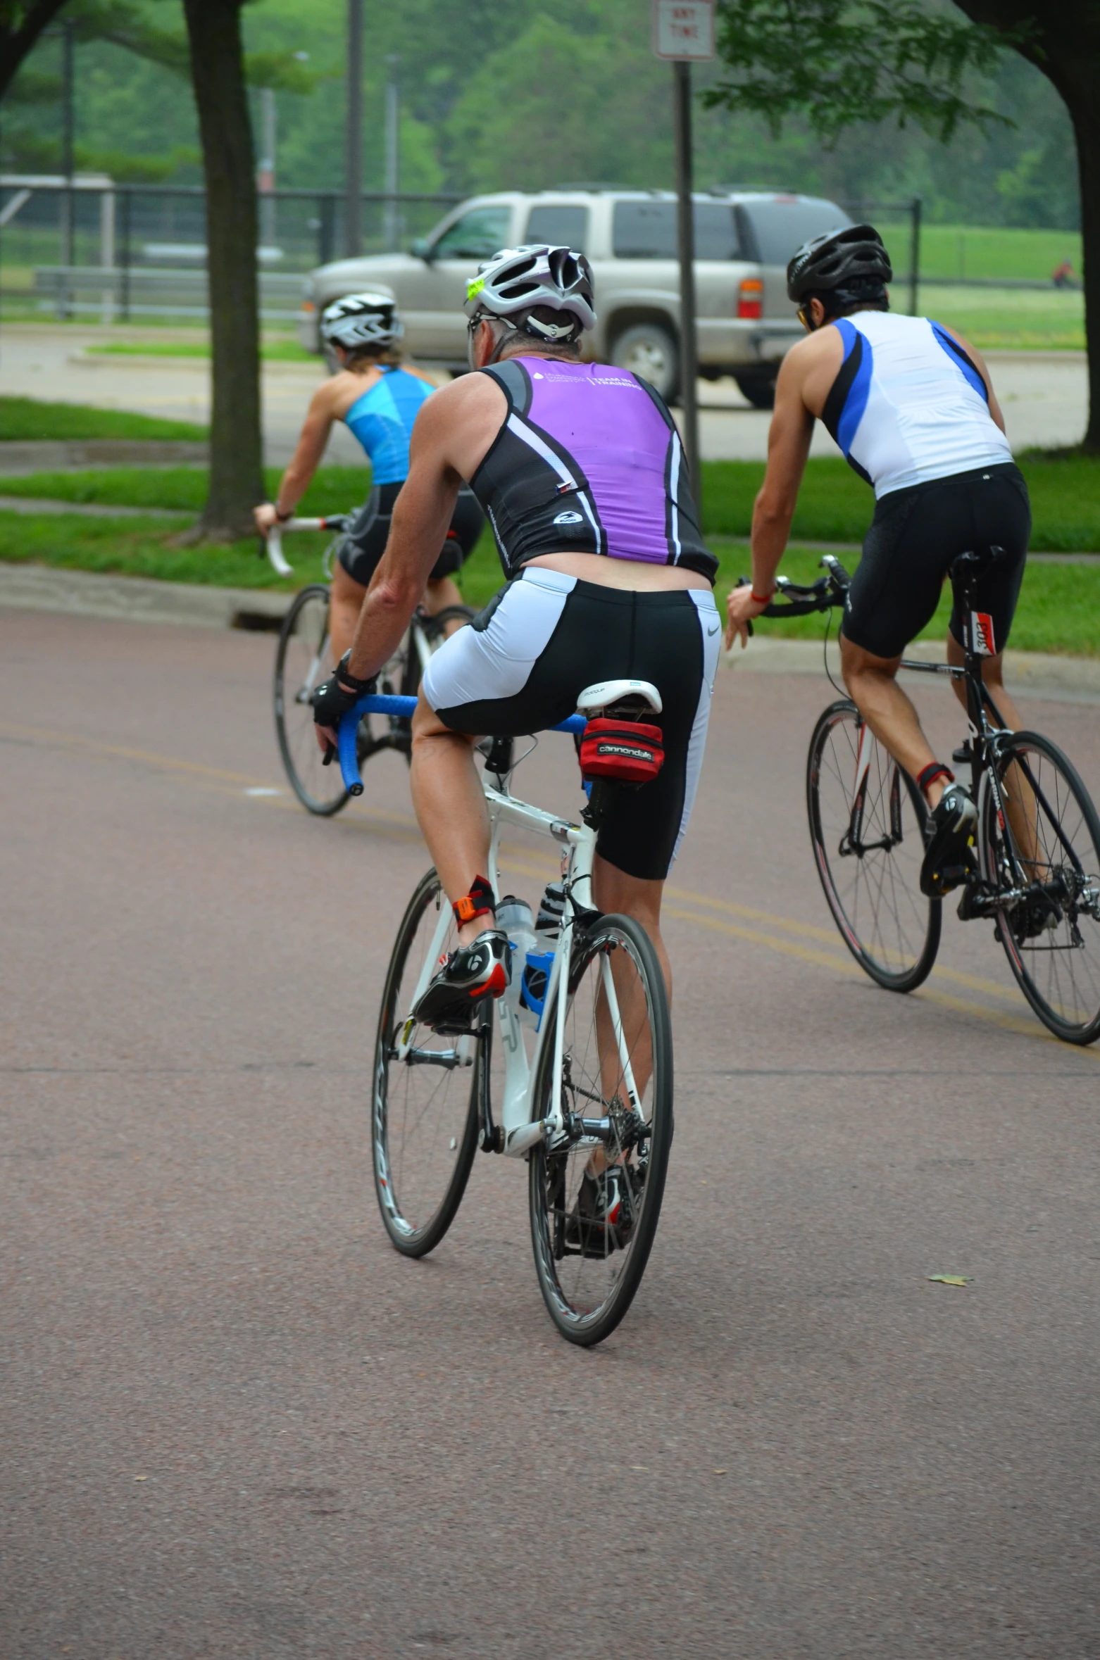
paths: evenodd
<path fill-rule="evenodd" d="M 344 787 L 352 795 L 362 793 L 362 779 L 359 775 L 359 762 L 356 757 L 356 729 L 364 714 L 385 714 L 385 715 L 412 715 L 415 709 L 414 697 L 390 697 L 372 694 L 362 697 L 352 710 L 349 710 L 342 720 L 337 732 L 337 750 L 341 772 L 344 777 Z M 585 717 L 570 715 L 563 720 L 555 732 L 583 732 Z M 507 752 L 497 750 L 497 745 L 507 745 Z M 532 807 L 527 802 L 517 800 L 508 790 L 508 777 L 512 774 L 512 754 L 510 739 L 495 740 L 490 749 L 489 759 L 485 762 L 485 772 L 482 774 L 482 788 L 485 792 L 485 803 L 489 807 L 490 822 L 490 843 L 489 843 L 489 881 L 494 893 L 500 891 L 500 832 L 505 827 L 515 830 L 527 830 L 532 835 L 542 835 L 552 840 L 562 853 L 562 878 L 565 885 L 565 913 L 562 918 L 562 928 L 558 931 L 558 940 L 553 948 L 553 959 L 550 964 L 550 973 L 547 974 L 547 989 L 543 994 L 543 1013 L 553 1008 L 555 1019 L 553 1029 L 550 1023 L 538 1014 L 535 1023 L 535 1047 L 532 1056 L 527 1054 L 527 1042 L 523 1039 L 523 1021 L 520 1014 L 512 1006 L 507 998 L 495 999 L 495 1016 L 498 1023 L 500 1038 L 503 1042 L 503 1102 L 500 1109 L 500 1130 L 494 1130 L 489 1111 L 484 1104 L 482 1116 L 482 1149 L 485 1152 L 497 1150 L 503 1152 L 512 1159 L 518 1159 L 528 1152 L 535 1142 L 540 1140 L 557 1140 L 567 1134 L 565 1111 L 562 1104 L 560 1077 L 563 1069 L 565 1056 L 565 1018 L 567 1018 L 567 991 L 568 986 L 562 988 L 562 974 L 567 973 L 568 963 L 572 961 L 573 935 L 578 921 L 587 915 L 592 915 L 597 906 L 592 895 L 592 867 L 597 850 L 597 832 L 590 825 L 575 825 L 568 818 L 560 818 L 555 813 L 548 813 L 540 807 Z M 447 928 L 450 926 L 450 906 L 439 906 L 439 920 L 432 933 L 432 943 L 424 958 L 424 966 L 417 978 L 415 988 L 412 991 L 410 1006 L 415 1006 L 417 998 L 427 988 L 427 983 L 435 969 L 435 964 L 442 954 L 444 940 L 447 938 Z M 523 963 L 513 964 L 513 974 L 523 973 Z M 608 1003 L 608 1014 L 611 1021 L 611 1029 L 615 1033 L 615 1042 L 618 1047 L 618 1061 L 621 1067 L 623 1084 L 630 1096 L 630 1106 L 636 1111 L 640 1107 L 638 1087 L 635 1082 L 633 1069 L 630 1064 L 630 1049 L 625 1042 L 623 1021 L 618 1008 L 618 994 L 615 991 L 615 979 L 611 974 L 611 964 L 603 958 L 600 964 L 603 994 Z M 533 1016 L 533 1011 L 525 1011 Z M 410 1046 L 409 1036 L 412 1031 L 412 1019 L 407 1019 L 400 1041 L 397 1042 L 397 1057 L 405 1059 Z M 455 1041 L 454 1066 L 472 1066 L 474 1064 L 474 1046 L 487 1038 L 485 1028 L 479 1033 L 462 1034 Z M 533 1120 L 530 1117 L 530 1092 L 533 1079 L 543 1064 L 543 1051 L 548 1042 L 553 1042 L 553 1109 L 547 1117 Z M 435 1062 L 439 1064 L 439 1062 Z M 487 1102 L 487 1094 L 485 1094 Z M 613 1134 L 610 1120 L 603 1119 L 583 1119 L 582 1129 L 585 1134 L 600 1137 L 605 1130 Z"/>

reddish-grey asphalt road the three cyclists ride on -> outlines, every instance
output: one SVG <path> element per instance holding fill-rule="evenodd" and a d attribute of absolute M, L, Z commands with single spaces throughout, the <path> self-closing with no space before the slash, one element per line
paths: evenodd
<path fill-rule="evenodd" d="M 395 757 L 331 823 L 253 793 L 271 654 L 0 613 L 5 1660 L 1093 1660 L 1100 1054 L 987 925 L 911 998 L 852 968 L 824 682 L 719 676 L 665 1212 L 582 1353 L 522 1169 L 479 1155 L 430 1260 L 385 1243 L 369 1057 L 425 855 Z M 1095 709 L 1027 715 L 1100 790 Z M 563 739 L 520 777 L 575 803 Z"/>

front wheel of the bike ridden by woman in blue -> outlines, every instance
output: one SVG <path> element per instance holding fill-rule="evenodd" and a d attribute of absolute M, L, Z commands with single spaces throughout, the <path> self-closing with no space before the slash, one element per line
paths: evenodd
<path fill-rule="evenodd" d="M 324 765 L 309 694 L 332 672 L 329 589 L 309 583 L 282 619 L 274 662 L 274 722 L 287 782 L 302 807 L 331 818 L 349 802 L 341 769 Z"/>

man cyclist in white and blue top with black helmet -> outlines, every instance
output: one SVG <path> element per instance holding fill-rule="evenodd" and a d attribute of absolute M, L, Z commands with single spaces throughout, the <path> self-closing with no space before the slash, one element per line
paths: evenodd
<path fill-rule="evenodd" d="M 841 669 L 861 715 L 932 810 L 921 886 L 939 896 L 965 880 L 977 812 L 950 767 L 935 759 L 897 686 L 897 666 L 931 622 L 952 561 L 1000 548 L 1004 556 L 977 583 L 977 611 L 992 636 L 984 674 L 1009 725 L 1020 725 L 1004 691 L 1002 661 L 1032 515 L 985 364 L 954 329 L 894 315 L 886 292 L 892 274 L 869 224 L 814 237 L 788 266 L 788 294 L 809 339 L 788 352 L 779 370 L 768 471 L 753 513 L 753 584 L 729 594 L 726 642 L 738 634 L 746 641 L 751 618 L 774 593 L 821 420 L 876 495 L 844 609 Z M 955 614 L 947 661 L 964 661 Z"/>

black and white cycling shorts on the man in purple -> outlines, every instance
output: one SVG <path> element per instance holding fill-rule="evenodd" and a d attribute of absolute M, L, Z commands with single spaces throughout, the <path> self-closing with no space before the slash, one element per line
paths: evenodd
<path fill-rule="evenodd" d="M 424 696 L 454 732 L 520 737 L 572 715 L 587 686 L 651 681 L 665 765 L 651 784 L 621 792 L 597 850 L 628 876 L 660 881 L 691 817 L 719 646 L 710 589 L 635 593 L 527 566 L 440 646 Z"/>

